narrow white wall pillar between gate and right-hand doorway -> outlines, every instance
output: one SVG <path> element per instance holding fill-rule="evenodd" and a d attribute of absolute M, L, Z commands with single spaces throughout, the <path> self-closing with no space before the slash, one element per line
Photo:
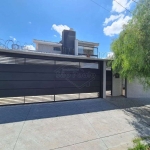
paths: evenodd
<path fill-rule="evenodd" d="M 112 96 L 122 95 L 122 79 L 112 77 Z"/>

